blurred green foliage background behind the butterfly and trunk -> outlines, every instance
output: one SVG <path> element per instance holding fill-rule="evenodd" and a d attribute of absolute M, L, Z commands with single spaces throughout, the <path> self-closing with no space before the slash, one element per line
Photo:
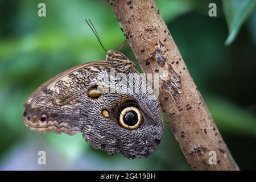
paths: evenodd
<path fill-rule="evenodd" d="M 46 17 L 38 17 L 40 2 Z M 210 2 L 217 17 L 208 16 Z M 238 166 L 256 169 L 255 1 L 156 4 Z M 159 150 L 136 160 L 94 150 L 81 134 L 36 134 L 22 122 L 23 104 L 40 84 L 74 65 L 105 59 L 85 19 L 106 48 L 123 42 L 107 1 L 1 0 L 0 14 L 0 169 L 190 170 L 166 121 Z M 129 45 L 122 52 L 134 60 Z M 41 150 L 47 165 L 38 165 Z"/>

